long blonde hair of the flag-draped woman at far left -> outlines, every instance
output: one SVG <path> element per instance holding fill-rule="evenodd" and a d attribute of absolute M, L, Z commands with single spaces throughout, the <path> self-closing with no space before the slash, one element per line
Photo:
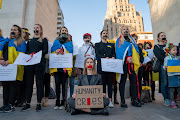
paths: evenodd
<path fill-rule="evenodd" d="M 18 37 L 14 40 L 14 44 L 15 44 L 16 46 L 19 46 L 19 45 L 21 45 L 21 44 L 23 43 L 23 41 L 24 41 L 24 38 L 23 38 L 23 36 L 22 36 L 22 29 L 21 29 L 21 27 L 19 27 L 18 25 L 13 25 L 13 27 L 17 27 L 17 28 L 18 28 L 19 35 L 18 35 Z M 11 35 L 10 35 L 10 39 L 13 39 Z"/>

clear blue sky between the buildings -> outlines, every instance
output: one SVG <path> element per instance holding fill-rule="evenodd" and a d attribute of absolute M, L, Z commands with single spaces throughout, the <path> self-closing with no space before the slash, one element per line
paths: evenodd
<path fill-rule="evenodd" d="M 141 11 L 144 29 L 151 32 L 151 18 L 148 0 L 129 0 L 135 4 L 136 11 Z M 107 0 L 59 0 L 64 14 L 65 26 L 73 37 L 73 42 L 79 47 L 83 44 L 83 34 L 91 33 L 92 42 L 100 41 L 100 31 L 107 10 Z"/>

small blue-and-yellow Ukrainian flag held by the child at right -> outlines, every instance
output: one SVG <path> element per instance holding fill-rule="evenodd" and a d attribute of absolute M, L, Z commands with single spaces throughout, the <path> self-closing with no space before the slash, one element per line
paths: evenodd
<path fill-rule="evenodd" d="M 167 72 L 180 72 L 180 60 L 168 60 Z"/>

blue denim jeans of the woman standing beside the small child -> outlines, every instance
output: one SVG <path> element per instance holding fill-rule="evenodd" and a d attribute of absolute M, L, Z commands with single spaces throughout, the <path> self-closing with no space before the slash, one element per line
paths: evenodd
<path fill-rule="evenodd" d="M 160 81 L 161 81 L 161 92 L 165 99 L 169 99 L 169 88 L 168 88 L 168 79 L 167 79 L 167 72 L 163 69 L 163 65 L 161 65 L 160 70 Z"/>

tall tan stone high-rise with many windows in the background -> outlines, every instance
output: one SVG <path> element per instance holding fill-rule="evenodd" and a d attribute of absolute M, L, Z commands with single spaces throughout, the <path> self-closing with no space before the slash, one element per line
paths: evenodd
<path fill-rule="evenodd" d="M 107 0 L 107 12 L 103 29 L 108 30 L 109 39 L 117 39 L 122 25 L 128 25 L 131 32 L 144 32 L 141 12 L 135 10 L 129 0 Z"/>

